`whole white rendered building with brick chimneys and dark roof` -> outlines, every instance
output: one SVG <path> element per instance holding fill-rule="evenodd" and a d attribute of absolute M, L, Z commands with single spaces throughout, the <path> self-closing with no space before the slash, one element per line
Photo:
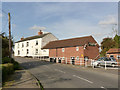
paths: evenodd
<path fill-rule="evenodd" d="M 14 56 L 49 57 L 49 49 L 41 48 L 54 40 L 58 39 L 52 33 L 43 33 L 40 30 L 36 36 L 21 38 L 15 42 Z"/>

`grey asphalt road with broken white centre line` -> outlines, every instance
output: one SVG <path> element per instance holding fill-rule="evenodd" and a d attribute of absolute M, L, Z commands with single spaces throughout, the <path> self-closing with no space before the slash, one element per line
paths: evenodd
<path fill-rule="evenodd" d="M 15 58 L 44 88 L 118 88 L 118 70 L 92 69 L 39 59 Z"/>

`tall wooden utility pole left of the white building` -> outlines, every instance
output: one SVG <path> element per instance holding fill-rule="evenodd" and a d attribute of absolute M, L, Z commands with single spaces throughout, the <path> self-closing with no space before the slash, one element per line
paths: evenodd
<path fill-rule="evenodd" d="M 12 45 L 11 45 L 11 24 L 10 24 L 10 13 L 8 13 L 8 24 L 9 24 L 9 57 L 12 57 Z"/>

